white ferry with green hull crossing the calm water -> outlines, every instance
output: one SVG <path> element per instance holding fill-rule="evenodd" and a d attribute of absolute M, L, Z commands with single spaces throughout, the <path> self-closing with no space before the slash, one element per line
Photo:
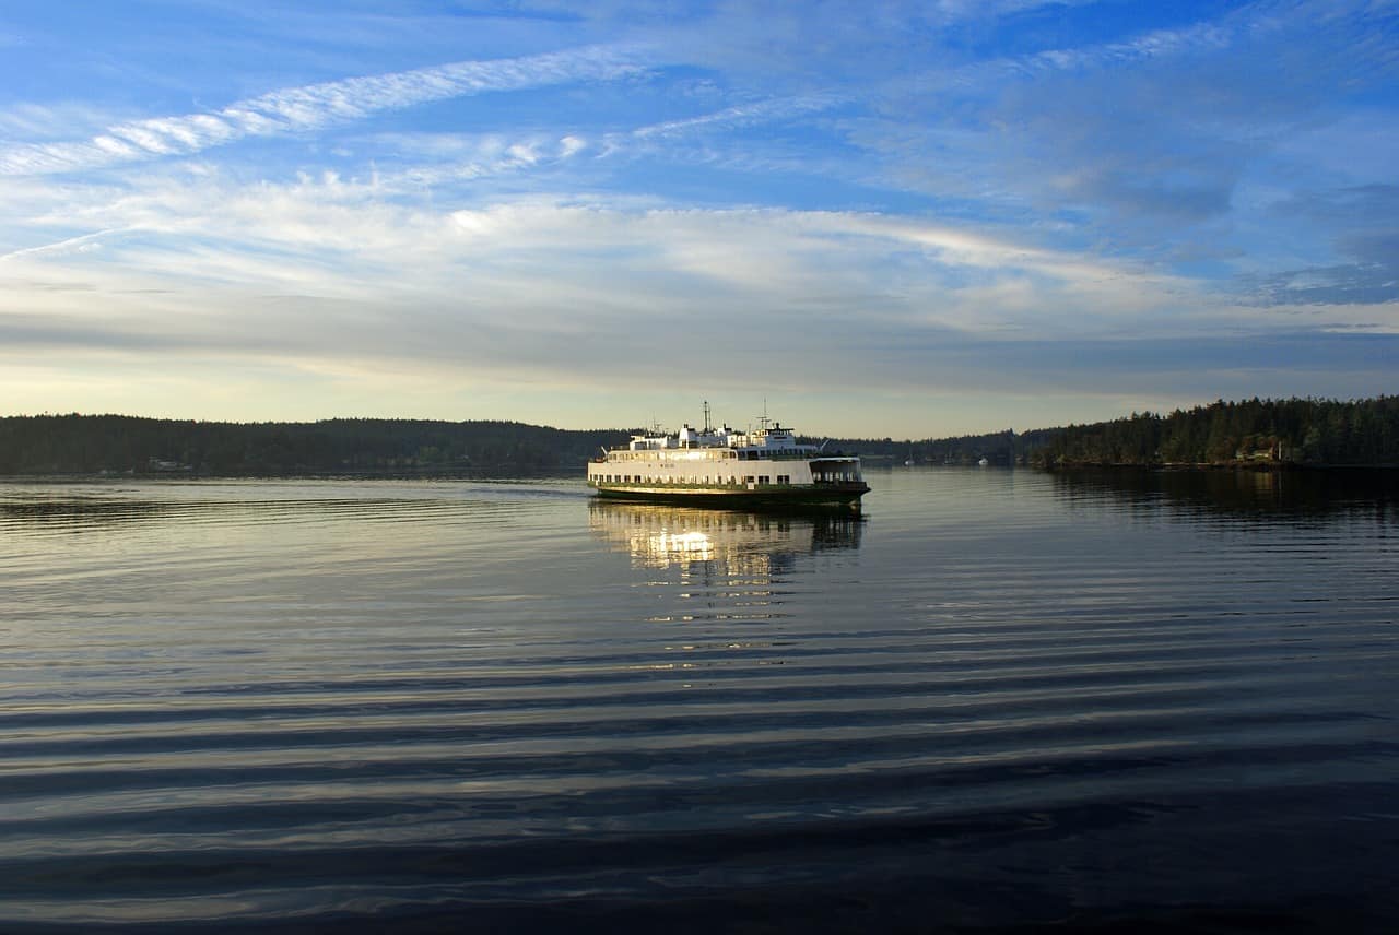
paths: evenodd
<path fill-rule="evenodd" d="M 691 506 L 842 506 L 859 509 L 869 485 L 853 454 L 827 454 L 797 443 L 792 429 L 765 415 L 757 430 L 688 423 L 680 432 L 631 436 L 624 447 L 588 463 L 599 496 Z"/>

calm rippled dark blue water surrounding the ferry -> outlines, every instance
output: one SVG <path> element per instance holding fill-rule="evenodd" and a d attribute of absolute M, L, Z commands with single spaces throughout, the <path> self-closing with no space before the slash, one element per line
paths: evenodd
<path fill-rule="evenodd" d="M 1399 924 L 1392 478 L 870 481 L 0 485 L 0 931 Z"/>

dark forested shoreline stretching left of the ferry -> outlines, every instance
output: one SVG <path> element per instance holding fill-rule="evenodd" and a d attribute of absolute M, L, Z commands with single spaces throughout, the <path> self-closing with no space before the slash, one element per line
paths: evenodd
<path fill-rule="evenodd" d="M 530 474 L 581 465 L 625 439 L 520 422 L 11 416 L 0 419 L 0 474 Z"/>

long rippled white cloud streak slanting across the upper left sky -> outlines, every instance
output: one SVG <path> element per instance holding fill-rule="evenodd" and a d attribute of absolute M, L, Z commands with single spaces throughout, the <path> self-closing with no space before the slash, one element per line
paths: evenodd
<path fill-rule="evenodd" d="M 13 145 L 0 150 L 0 175 L 48 175 L 190 155 L 246 137 L 315 130 L 432 101 L 614 80 L 644 67 L 635 48 L 590 46 L 285 88 L 207 113 L 119 123 L 88 140 Z"/>

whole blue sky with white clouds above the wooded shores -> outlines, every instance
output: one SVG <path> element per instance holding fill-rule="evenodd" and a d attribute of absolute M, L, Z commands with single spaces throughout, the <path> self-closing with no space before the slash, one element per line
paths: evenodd
<path fill-rule="evenodd" d="M 0 415 L 921 439 L 1396 375 L 1395 1 L 0 3 Z"/>

